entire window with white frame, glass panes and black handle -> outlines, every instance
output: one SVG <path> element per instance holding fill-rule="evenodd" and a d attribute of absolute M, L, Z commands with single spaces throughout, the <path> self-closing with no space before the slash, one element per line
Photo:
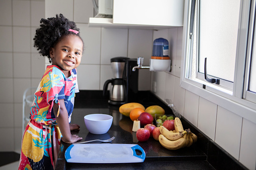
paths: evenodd
<path fill-rule="evenodd" d="M 255 1 L 185 1 L 181 86 L 256 121 Z"/>

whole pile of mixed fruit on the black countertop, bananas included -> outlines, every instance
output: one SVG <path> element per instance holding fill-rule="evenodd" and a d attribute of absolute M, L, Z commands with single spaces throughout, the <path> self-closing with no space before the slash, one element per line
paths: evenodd
<path fill-rule="evenodd" d="M 183 129 L 179 117 L 165 115 L 164 109 L 158 105 L 145 109 L 140 103 L 126 103 L 120 106 L 119 112 L 133 121 L 132 131 L 136 132 L 139 141 L 153 137 L 170 150 L 189 147 L 197 141 L 197 136 L 190 129 Z M 153 117 L 156 118 L 156 125 L 153 124 Z"/>

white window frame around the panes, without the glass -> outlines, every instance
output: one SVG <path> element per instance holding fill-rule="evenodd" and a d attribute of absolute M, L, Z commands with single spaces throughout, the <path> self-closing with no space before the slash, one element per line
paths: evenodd
<path fill-rule="evenodd" d="M 184 5 L 184 25 L 183 25 L 183 49 L 182 49 L 182 65 L 181 65 L 181 87 L 189 90 L 241 117 L 244 117 L 253 123 L 256 123 L 256 103 L 245 100 L 244 94 L 244 83 L 247 82 L 245 74 L 246 55 L 249 51 L 247 50 L 247 42 L 250 43 L 250 35 L 248 32 L 251 30 L 251 26 L 248 26 L 250 12 L 255 13 L 255 0 L 241 0 L 239 24 L 238 24 L 238 36 L 237 36 L 237 49 L 236 49 L 236 62 L 235 62 L 235 73 L 234 73 L 234 85 L 233 93 L 226 93 L 220 91 L 216 86 L 206 82 L 195 82 L 191 79 L 186 78 L 186 65 L 187 56 L 189 51 L 189 19 L 191 14 L 191 3 L 190 0 L 185 0 Z M 252 4 L 250 4 L 252 3 Z M 251 10 L 250 10 L 251 7 Z M 206 85 L 205 89 L 203 84 Z"/>

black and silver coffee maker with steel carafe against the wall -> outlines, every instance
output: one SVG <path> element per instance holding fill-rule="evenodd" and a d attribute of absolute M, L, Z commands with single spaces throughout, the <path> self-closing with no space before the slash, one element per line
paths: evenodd
<path fill-rule="evenodd" d="M 128 103 L 138 93 L 138 70 L 132 71 L 137 66 L 137 59 L 115 57 L 110 62 L 114 78 L 104 83 L 103 96 L 107 95 L 108 85 L 111 83 L 108 102 L 113 105 Z"/>

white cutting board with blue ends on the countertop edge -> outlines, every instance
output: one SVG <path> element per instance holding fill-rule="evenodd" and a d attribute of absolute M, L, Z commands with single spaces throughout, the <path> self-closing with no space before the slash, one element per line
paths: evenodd
<path fill-rule="evenodd" d="M 142 154 L 137 155 L 135 150 L 141 151 Z M 75 163 L 143 162 L 145 156 L 145 151 L 137 144 L 71 144 L 65 151 L 66 161 Z"/>

